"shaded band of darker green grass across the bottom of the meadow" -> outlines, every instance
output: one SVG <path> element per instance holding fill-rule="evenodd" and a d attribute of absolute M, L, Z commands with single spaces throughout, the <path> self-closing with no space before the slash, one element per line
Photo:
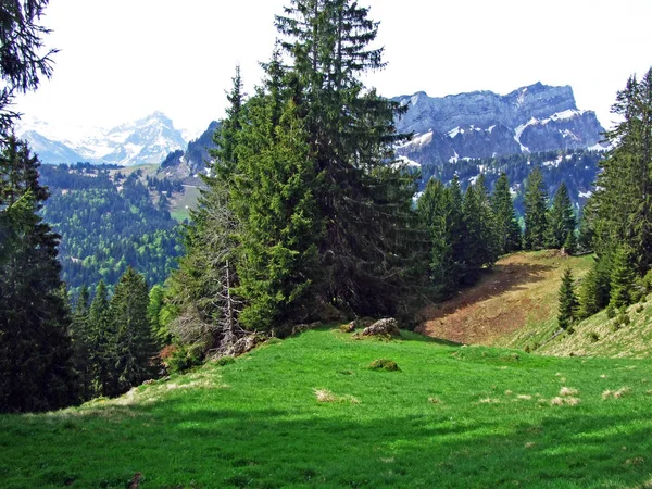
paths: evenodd
<path fill-rule="evenodd" d="M 586 488 L 650 480 L 645 413 L 547 409 L 523 423 L 490 412 L 451 416 L 436 405 L 397 417 L 369 414 L 364 404 L 342 414 L 341 404 L 315 402 L 301 412 L 188 410 L 171 399 L 133 406 L 114 419 L 50 416 L 51 434 L 32 457 L 25 450 L 34 434 L 10 429 L 13 442 L 7 443 L 5 431 L 1 446 L 5 456 L 16 456 L 5 459 L 13 464 L 0 465 L 0 474 L 12 480 L 18 471 L 32 484 L 2 487 L 125 487 L 137 472 L 142 488 Z M 42 425 L 39 417 L 33 416 L 34 426 Z M 54 436 L 60 441 L 50 446 Z"/>

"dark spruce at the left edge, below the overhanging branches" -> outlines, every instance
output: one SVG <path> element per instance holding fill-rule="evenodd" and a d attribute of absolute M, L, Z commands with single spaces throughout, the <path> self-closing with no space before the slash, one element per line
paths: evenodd
<path fill-rule="evenodd" d="M 0 411 L 58 409 L 77 399 L 59 236 L 38 215 L 38 159 L 14 137 L 0 146 Z"/>

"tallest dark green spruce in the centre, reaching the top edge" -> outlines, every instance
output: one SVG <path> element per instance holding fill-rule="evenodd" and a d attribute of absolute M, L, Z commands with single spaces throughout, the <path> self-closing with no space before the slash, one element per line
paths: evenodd
<path fill-rule="evenodd" d="M 292 0 L 276 17 L 299 89 L 324 234 L 319 242 L 322 300 L 358 314 L 396 314 L 414 272 L 417 226 L 411 208 L 415 178 L 388 165 L 402 109 L 366 90 L 360 76 L 384 67 L 371 48 L 378 24 L 349 0 Z M 411 242 L 412 241 L 412 242 Z M 421 250 L 419 250 L 421 251 Z"/>

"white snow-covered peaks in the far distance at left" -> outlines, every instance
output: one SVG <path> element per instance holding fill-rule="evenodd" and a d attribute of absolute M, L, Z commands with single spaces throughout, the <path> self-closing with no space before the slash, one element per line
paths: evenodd
<path fill-rule="evenodd" d="M 188 146 L 181 131 L 161 112 L 111 129 L 26 118 L 16 133 L 48 164 L 159 164 L 170 152 Z"/>

